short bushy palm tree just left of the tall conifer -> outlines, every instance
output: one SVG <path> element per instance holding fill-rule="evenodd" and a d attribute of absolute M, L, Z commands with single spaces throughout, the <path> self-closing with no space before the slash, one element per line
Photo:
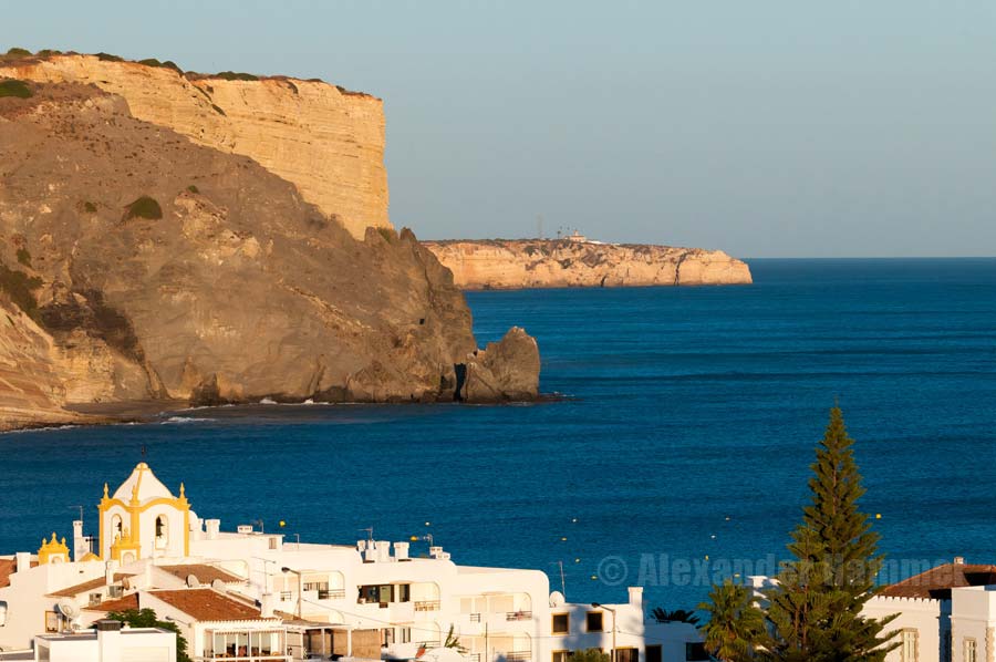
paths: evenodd
<path fill-rule="evenodd" d="M 706 650 L 724 662 L 746 662 L 757 658 L 765 638 L 765 616 L 754 603 L 747 587 L 726 580 L 713 587 L 709 601 L 698 606 L 709 616 L 699 630 Z"/>

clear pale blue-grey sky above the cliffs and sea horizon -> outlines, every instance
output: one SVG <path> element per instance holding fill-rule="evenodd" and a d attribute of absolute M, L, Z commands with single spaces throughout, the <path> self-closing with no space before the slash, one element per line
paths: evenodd
<path fill-rule="evenodd" d="M 10 46 L 380 96 L 424 239 L 996 255 L 992 0 L 0 0 Z"/>

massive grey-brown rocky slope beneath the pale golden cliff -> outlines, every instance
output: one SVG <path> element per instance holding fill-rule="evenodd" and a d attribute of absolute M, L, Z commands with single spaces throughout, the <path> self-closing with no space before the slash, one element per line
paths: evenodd
<path fill-rule="evenodd" d="M 0 97 L 0 290 L 20 311 L 0 334 L 0 416 L 457 394 L 470 312 L 411 231 L 357 240 L 258 163 L 138 121 L 118 96 L 32 92 Z M 522 396 L 521 374 L 489 370 L 497 387 L 477 400 Z"/>

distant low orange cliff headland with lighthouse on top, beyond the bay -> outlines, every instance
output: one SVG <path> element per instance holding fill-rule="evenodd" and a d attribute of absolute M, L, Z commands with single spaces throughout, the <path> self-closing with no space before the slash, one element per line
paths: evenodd
<path fill-rule="evenodd" d="M 426 241 L 468 290 L 745 285 L 749 267 L 722 250 L 562 240 Z"/>

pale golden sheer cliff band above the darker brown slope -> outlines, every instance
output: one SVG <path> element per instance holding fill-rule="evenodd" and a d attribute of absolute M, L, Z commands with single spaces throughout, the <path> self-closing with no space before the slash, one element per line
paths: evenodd
<path fill-rule="evenodd" d="M 93 83 L 124 97 L 138 120 L 253 158 L 359 239 L 367 226 L 391 227 L 380 99 L 297 79 L 188 79 L 96 55 L 0 63 L 0 76 Z"/>

